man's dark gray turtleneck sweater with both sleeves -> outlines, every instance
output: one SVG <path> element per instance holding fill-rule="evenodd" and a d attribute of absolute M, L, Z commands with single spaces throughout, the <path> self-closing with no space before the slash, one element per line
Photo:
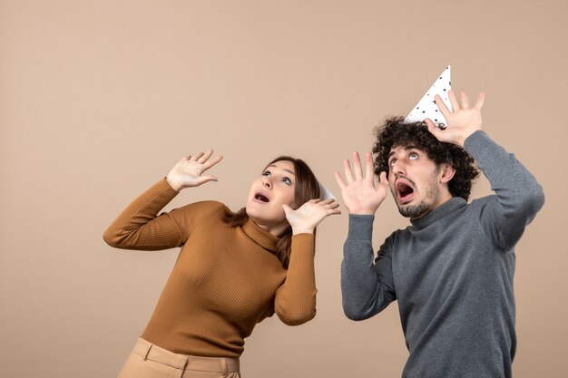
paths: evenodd
<path fill-rule="evenodd" d="M 341 265 L 345 314 L 376 315 L 398 301 L 410 353 L 408 378 L 511 377 L 514 245 L 544 205 L 544 193 L 513 154 L 476 131 L 465 150 L 495 195 L 453 198 L 380 247 L 373 216 L 349 216 Z M 380 358 L 380 357 L 379 357 Z"/>

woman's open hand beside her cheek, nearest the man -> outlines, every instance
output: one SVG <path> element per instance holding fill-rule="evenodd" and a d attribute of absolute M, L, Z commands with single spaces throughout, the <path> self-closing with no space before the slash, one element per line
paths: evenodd
<path fill-rule="evenodd" d="M 314 229 L 326 217 L 341 214 L 335 199 L 311 199 L 296 210 L 282 205 L 286 219 L 292 227 L 292 234 L 313 234 Z"/>

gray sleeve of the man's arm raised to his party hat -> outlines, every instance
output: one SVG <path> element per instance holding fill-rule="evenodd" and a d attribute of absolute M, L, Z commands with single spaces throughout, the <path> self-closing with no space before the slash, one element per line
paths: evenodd
<path fill-rule="evenodd" d="M 481 227 L 495 247 L 511 250 L 544 206 L 543 188 L 514 154 L 497 145 L 485 131 L 470 135 L 465 140 L 465 150 L 474 157 L 495 191 L 495 196 L 485 201 Z"/>

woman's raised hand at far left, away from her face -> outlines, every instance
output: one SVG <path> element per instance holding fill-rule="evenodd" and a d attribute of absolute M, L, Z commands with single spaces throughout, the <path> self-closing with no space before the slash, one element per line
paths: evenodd
<path fill-rule="evenodd" d="M 166 177 L 171 188 L 180 191 L 184 188 L 199 187 L 207 181 L 217 181 L 215 176 L 203 176 L 203 172 L 223 159 L 221 155 L 211 158 L 213 150 L 206 150 L 197 155 L 184 156 Z"/>

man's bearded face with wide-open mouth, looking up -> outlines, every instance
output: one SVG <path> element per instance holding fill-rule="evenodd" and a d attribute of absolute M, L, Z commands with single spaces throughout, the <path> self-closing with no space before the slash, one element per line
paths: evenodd
<path fill-rule="evenodd" d="M 442 173 L 424 150 L 394 146 L 388 167 L 388 185 L 403 217 L 424 217 L 447 200 L 447 195 L 441 195 Z"/>

